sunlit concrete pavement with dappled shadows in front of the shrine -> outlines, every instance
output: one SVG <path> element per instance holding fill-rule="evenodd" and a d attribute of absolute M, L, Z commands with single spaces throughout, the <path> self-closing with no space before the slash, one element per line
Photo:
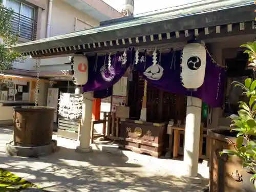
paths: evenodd
<path fill-rule="evenodd" d="M 122 152 L 80 154 L 76 141 L 57 138 L 58 151 L 40 158 L 10 157 L 5 143 L 12 140 L 11 127 L 0 127 L 0 167 L 50 191 L 203 191 L 207 179 L 200 185 L 182 182 L 182 161 L 156 159 Z M 199 165 L 202 177 L 208 177 L 208 167 Z"/>

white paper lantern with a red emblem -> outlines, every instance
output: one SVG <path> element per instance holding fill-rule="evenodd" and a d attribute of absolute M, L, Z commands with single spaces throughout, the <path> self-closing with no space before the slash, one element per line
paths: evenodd
<path fill-rule="evenodd" d="M 88 59 L 84 55 L 74 56 L 74 83 L 77 85 L 86 84 L 88 81 Z"/>

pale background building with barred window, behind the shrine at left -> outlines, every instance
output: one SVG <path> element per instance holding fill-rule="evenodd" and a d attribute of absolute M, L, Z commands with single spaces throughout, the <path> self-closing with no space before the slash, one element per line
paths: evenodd
<path fill-rule="evenodd" d="M 100 22 L 123 15 L 101 0 L 3 0 L 6 8 L 14 10 L 13 33 L 19 42 L 71 33 L 98 27 Z M 70 58 L 41 59 L 39 105 L 46 105 L 49 80 L 57 80 L 59 91 L 72 91 Z M 11 81 L 10 89 L 0 92 L 0 100 L 34 101 L 36 59 L 27 57 L 24 63 L 14 63 L 12 70 L 1 74 L 2 81 Z M 46 80 L 46 78 L 48 80 Z M 69 85 L 70 84 L 70 85 Z M 68 90 L 70 89 L 70 90 Z"/>

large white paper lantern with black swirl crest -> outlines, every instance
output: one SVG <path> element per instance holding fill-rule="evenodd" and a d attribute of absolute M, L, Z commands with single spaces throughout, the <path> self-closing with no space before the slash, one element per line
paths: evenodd
<path fill-rule="evenodd" d="M 204 82 L 206 67 L 206 49 L 203 45 L 193 42 L 183 48 L 181 60 L 181 78 L 187 89 L 200 88 Z"/>

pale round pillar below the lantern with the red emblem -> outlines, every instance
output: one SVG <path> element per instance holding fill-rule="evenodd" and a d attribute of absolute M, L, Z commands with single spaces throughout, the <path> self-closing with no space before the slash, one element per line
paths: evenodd
<path fill-rule="evenodd" d="M 82 104 L 82 122 L 80 131 L 80 144 L 76 147 L 80 153 L 87 153 L 91 151 L 91 123 L 93 111 L 93 92 L 83 93 Z"/>

